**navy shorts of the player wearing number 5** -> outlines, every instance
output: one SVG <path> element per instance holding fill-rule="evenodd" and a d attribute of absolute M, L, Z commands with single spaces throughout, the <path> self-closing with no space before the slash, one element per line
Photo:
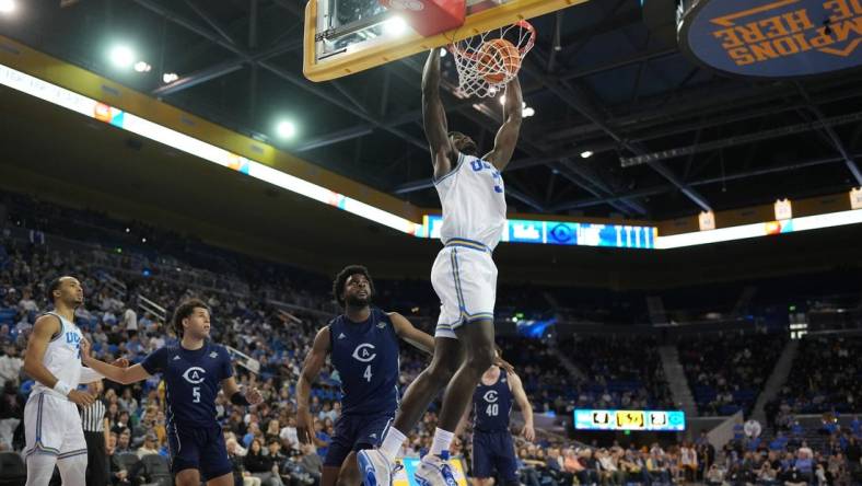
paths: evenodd
<path fill-rule="evenodd" d="M 167 428 L 171 472 L 198 470 L 203 482 L 233 473 L 221 426 Z"/>

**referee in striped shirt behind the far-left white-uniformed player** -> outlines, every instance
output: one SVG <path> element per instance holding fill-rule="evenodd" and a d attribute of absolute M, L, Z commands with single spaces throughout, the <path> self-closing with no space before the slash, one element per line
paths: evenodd
<path fill-rule="evenodd" d="M 81 423 L 84 427 L 84 440 L 86 440 L 86 484 L 89 486 L 107 486 L 108 484 L 106 450 L 108 437 L 110 437 L 110 425 L 105 416 L 107 408 L 100 400 L 103 389 L 102 380 L 88 384 L 86 391 L 96 400 L 81 409 Z"/>

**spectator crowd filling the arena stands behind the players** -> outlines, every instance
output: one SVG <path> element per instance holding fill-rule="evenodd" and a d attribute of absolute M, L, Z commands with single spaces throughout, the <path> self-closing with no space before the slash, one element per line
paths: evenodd
<path fill-rule="evenodd" d="M 101 247 L 85 245 L 85 240 L 55 245 L 36 230 L 13 234 L 0 222 L 0 450 L 23 448 L 21 417 L 33 381 L 22 373 L 22 355 L 35 319 L 48 310 L 46 282 L 55 276 L 74 275 L 86 293 L 75 322 L 93 343 L 96 357 L 106 361 L 121 357 L 139 362 L 160 347 L 175 345 L 177 337 L 165 326 L 171 308 L 193 296 L 208 302 L 213 312 L 213 339 L 235 352 L 237 381 L 258 387 L 265 397 L 261 405 L 248 409 L 233 406 L 224 396 L 217 398 L 236 484 L 318 484 L 322 458 L 340 414 L 340 381 L 327 364 L 315 384 L 312 444 L 298 440 L 294 385 L 316 331 L 337 312 L 327 297 L 326 278 L 279 266 L 273 270 L 260 262 L 245 263 L 206 245 L 180 243 L 176 235 L 124 228 L 98 215 L 70 213 L 43 204 L 38 208 L 33 215 L 39 216 L 28 223 L 33 228 L 55 228 L 50 218 L 72 215 L 120 234 L 147 231 L 162 243 L 159 251 L 124 250 L 113 241 Z M 80 224 L 77 228 L 80 230 Z M 197 250 L 193 252 L 193 247 Z M 411 313 L 408 309 L 430 306 L 427 297 L 417 296 L 427 286 L 403 281 L 378 282 L 377 287 L 386 302 L 397 303 L 399 308 L 394 310 L 407 315 Z M 540 305 L 536 292 L 524 296 Z M 860 408 L 861 343 L 858 338 L 802 342 L 770 414 L 776 418 L 770 440 L 737 437 L 715 451 L 706 437 L 680 444 L 615 442 L 601 447 L 543 433 L 533 443 L 517 440 L 521 481 L 528 486 L 851 484 L 860 461 L 858 420 L 849 428 L 824 426 L 822 442 L 812 449 L 804 433 L 794 431 L 793 417 Z M 783 345 L 783 338 L 776 335 L 680 342 L 680 361 L 700 414 L 749 412 Z M 506 338 L 501 346 L 539 414 L 569 417 L 574 408 L 674 407 L 655 340 L 579 336 L 560 342 L 554 350 L 540 340 Z M 404 347 L 403 389 L 427 360 Z M 110 484 L 139 484 L 149 471 L 142 465 L 147 458 L 167 455 L 164 384 L 154 377 L 128 386 L 105 381 L 104 386 L 91 390 L 105 405 Z M 420 456 L 435 427 L 436 406 L 432 405 L 410 433 L 405 455 Z M 464 439 L 455 442 L 453 452 L 464 455 L 469 464 L 470 443 L 466 436 Z"/>

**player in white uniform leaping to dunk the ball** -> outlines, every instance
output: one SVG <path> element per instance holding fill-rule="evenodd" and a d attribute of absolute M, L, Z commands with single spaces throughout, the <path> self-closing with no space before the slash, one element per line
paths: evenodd
<path fill-rule="evenodd" d="M 443 206 L 445 247 L 434 261 L 431 282 L 441 300 L 431 366 L 410 385 L 393 427 L 376 450 L 358 454 L 365 486 L 389 486 L 395 456 L 441 387 L 446 386 L 440 421 L 429 453 L 417 467 L 422 486 L 454 484 L 449 448 L 474 387 L 491 366 L 497 266 L 491 252 L 505 228 L 505 195 L 500 172 L 512 158 L 521 130 L 522 94 L 517 79 L 506 85 L 505 121 L 493 150 L 477 158 L 477 146 L 447 132 L 440 101 L 440 49 L 429 55 L 422 74 L 422 113 L 434 166 L 434 186 Z M 466 358 L 458 359 L 459 345 Z M 461 363 L 454 375 L 451 363 Z M 451 380 L 450 380 L 451 378 Z M 446 383 L 449 382 L 449 385 Z"/>

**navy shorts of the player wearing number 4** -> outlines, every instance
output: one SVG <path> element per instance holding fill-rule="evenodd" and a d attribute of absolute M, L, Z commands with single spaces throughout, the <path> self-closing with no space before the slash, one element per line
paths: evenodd
<path fill-rule="evenodd" d="M 351 452 L 380 445 L 392 419 L 392 414 L 341 415 L 338 417 L 338 420 L 335 421 L 335 436 L 329 442 L 324 465 L 340 467 Z"/>

